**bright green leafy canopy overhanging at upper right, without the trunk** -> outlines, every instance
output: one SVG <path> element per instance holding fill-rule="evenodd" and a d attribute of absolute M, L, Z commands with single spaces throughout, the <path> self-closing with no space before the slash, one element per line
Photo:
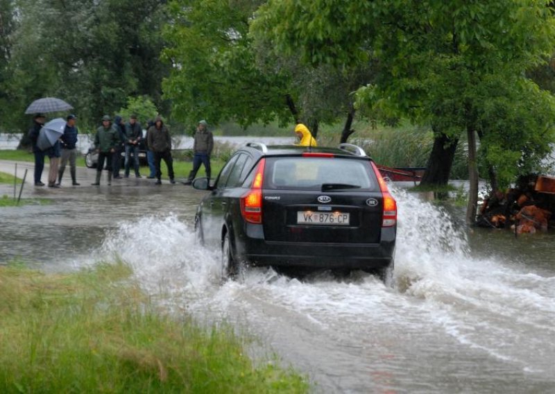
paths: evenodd
<path fill-rule="evenodd" d="M 545 1 L 270 0 L 253 30 L 311 65 L 376 58 L 359 110 L 450 137 L 477 130 L 482 173 L 495 168 L 503 184 L 538 168 L 554 141 L 555 103 L 525 76 L 555 49 Z"/>

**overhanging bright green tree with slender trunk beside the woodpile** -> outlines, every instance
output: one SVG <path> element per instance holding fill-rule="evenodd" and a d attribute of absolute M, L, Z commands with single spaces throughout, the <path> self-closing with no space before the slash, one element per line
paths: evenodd
<path fill-rule="evenodd" d="M 445 137 L 456 141 L 465 132 L 472 142 L 475 132 L 490 133 L 481 121 L 488 101 L 497 98 L 496 83 L 518 82 L 506 87 L 515 87 L 507 95 L 515 101 L 506 110 L 527 119 L 535 117 L 532 111 L 515 111 L 517 87 L 524 83 L 524 71 L 545 60 L 555 42 L 552 10 L 547 1 L 536 0 L 271 0 L 257 19 L 273 26 L 268 34 L 284 53 L 298 53 L 313 65 L 343 67 L 377 58 L 382 72 L 372 97 L 416 123 L 431 124 L 438 132 L 436 144 L 443 149 L 449 148 L 443 144 Z M 491 80 L 496 83 L 488 83 Z M 493 89 L 482 89 L 484 84 Z M 528 92 L 546 99 L 539 90 Z M 552 103 L 547 100 L 540 107 L 549 114 Z M 488 116 L 499 115 L 489 112 Z M 532 134 L 545 132 L 545 125 L 527 124 L 535 127 Z M 545 137 L 540 141 L 544 145 L 550 142 Z M 482 144 L 489 142 L 484 139 Z M 520 140 L 520 151 L 527 143 L 527 138 Z M 474 220 L 477 198 L 474 155 L 475 146 L 470 144 L 469 222 Z"/>

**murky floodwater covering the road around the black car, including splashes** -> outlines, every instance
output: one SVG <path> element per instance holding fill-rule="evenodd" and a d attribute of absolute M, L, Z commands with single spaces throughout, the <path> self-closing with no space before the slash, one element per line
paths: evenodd
<path fill-rule="evenodd" d="M 67 271 L 119 256 L 176 314 L 231 322 L 317 393 L 555 392 L 553 233 L 467 231 L 463 209 L 394 188 L 395 289 L 363 273 L 301 282 L 259 268 L 221 285 L 219 251 L 194 243 L 203 192 L 134 178 L 85 186 L 93 176 L 26 187 L 50 205 L 0 208 L 0 262 Z"/>

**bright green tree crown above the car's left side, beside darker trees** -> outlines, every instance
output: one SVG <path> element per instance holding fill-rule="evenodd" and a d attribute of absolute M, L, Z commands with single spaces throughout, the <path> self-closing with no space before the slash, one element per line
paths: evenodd
<path fill-rule="evenodd" d="M 256 67 L 248 37 L 255 3 L 173 0 L 162 58 L 172 65 L 164 96 L 185 124 L 234 119 L 241 126 L 287 117 L 287 76 Z"/>

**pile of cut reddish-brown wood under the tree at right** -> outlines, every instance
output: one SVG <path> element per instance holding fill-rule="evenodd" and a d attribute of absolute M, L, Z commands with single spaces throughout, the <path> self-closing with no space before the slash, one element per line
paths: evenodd
<path fill-rule="evenodd" d="M 484 200 L 477 225 L 511 228 L 517 234 L 555 228 L 555 178 L 528 175 L 518 180 L 506 193 L 492 191 Z"/>

